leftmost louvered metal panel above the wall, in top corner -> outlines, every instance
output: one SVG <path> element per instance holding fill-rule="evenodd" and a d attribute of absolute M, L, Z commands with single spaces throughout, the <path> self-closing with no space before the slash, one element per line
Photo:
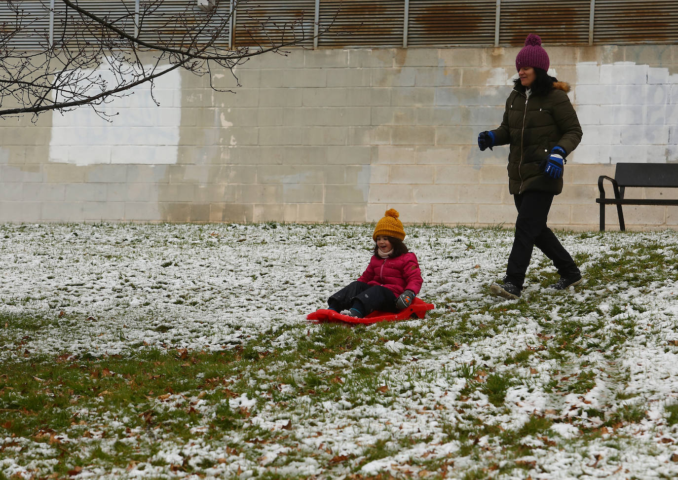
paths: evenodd
<path fill-rule="evenodd" d="M 4 2 L 3 2 L 4 3 Z M 49 45 L 49 0 L 14 2 L 0 7 L 0 38 L 18 49 L 43 49 Z"/>

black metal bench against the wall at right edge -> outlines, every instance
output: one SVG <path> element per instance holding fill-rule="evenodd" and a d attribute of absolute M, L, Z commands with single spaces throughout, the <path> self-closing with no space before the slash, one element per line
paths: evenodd
<path fill-rule="evenodd" d="M 605 198 L 603 180 L 612 182 L 613 198 Z M 606 175 L 598 177 L 600 198 L 600 231 L 605 230 L 605 205 L 617 205 L 619 228 L 626 230 L 622 205 L 678 205 L 678 199 L 627 199 L 626 187 L 678 188 L 678 163 L 617 163 L 614 178 Z"/>

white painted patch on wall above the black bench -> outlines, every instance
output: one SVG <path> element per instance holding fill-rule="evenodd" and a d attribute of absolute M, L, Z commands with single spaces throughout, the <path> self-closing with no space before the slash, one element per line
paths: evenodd
<path fill-rule="evenodd" d="M 576 69 L 577 163 L 678 161 L 678 75 L 635 62 Z"/>

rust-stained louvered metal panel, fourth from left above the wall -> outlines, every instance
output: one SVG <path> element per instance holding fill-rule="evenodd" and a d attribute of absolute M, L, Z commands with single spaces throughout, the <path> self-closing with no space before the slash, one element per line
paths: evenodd
<path fill-rule="evenodd" d="M 313 37 L 315 0 L 259 0 L 240 4 L 236 12 L 237 46 L 270 47 L 273 43 Z"/>

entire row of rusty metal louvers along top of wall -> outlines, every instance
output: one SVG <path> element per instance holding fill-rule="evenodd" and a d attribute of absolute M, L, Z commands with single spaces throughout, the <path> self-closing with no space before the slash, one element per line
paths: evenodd
<path fill-rule="evenodd" d="M 678 0 L 214 0 L 214 9 L 201 9 L 212 1 L 77 4 L 130 35 L 138 32 L 142 41 L 172 47 L 201 48 L 215 37 L 216 48 L 287 43 L 311 37 L 316 18 L 320 31 L 332 25 L 332 33 L 321 35 L 315 45 L 330 48 L 490 46 L 495 41 L 521 46 L 530 33 L 546 45 L 678 43 Z M 237 5 L 233 18 L 232 3 Z M 62 0 L 54 0 L 53 14 L 49 5 L 50 0 L 0 0 L 1 45 L 41 49 L 54 39 L 57 46 L 80 47 L 108 35 L 66 9 Z M 187 45 L 196 33 L 197 43 Z M 115 35 L 108 40 L 112 47 L 125 47 Z"/>

